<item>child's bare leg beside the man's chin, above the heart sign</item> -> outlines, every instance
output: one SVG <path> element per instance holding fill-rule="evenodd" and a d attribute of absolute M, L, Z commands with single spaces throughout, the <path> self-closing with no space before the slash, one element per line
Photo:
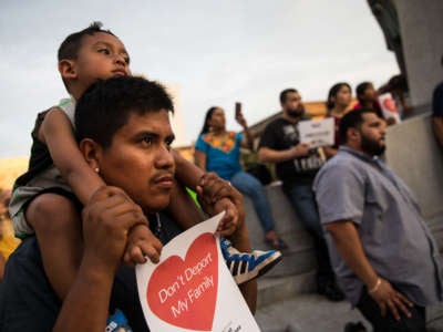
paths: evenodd
<path fill-rule="evenodd" d="M 188 229 L 206 219 L 203 210 L 178 181 L 175 181 L 167 211 L 183 229 Z"/>

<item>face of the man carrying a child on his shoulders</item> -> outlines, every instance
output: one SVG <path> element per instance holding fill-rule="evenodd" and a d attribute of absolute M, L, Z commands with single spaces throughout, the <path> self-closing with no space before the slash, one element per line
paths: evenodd
<path fill-rule="evenodd" d="M 167 111 L 131 113 L 111 146 L 101 152 L 100 175 L 125 190 L 145 212 L 158 211 L 169 204 L 174 184 L 173 141 Z"/>

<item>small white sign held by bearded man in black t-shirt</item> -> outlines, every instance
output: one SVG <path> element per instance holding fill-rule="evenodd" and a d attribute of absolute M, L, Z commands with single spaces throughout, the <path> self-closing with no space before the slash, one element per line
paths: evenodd
<path fill-rule="evenodd" d="M 300 121 L 298 123 L 300 142 L 309 144 L 311 148 L 333 145 L 333 127 L 332 117 L 321 121 Z"/>

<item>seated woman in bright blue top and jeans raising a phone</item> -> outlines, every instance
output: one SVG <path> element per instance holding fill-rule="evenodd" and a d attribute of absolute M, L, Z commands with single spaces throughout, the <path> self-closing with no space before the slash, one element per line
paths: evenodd
<path fill-rule="evenodd" d="M 244 128 L 244 134 L 226 131 L 223 108 L 214 106 L 206 112 L 205 122 L 195 145 L 195 163 L 204 170 L 217 173 L 240 193 L 247 195 L 253 201 L 265 231 L 266 242 L 277 250 L 286 249 L 287 245 L 275 231 L 270 205 L 262 185 L 256 177 L 241 169 L 240 147 L 251 149 L 254 139 L 243 115 L 240 103 L 236 103 L 235 112 L 235 118 Z"/>

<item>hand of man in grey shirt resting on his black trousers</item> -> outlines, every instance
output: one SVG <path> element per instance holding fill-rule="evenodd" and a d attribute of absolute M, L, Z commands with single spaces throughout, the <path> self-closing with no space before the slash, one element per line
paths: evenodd
<path fill-rule="evenodd" d="M 408 307 L 412 307 L 412 302 L 406 299 L 402 293 L 394 290 L 388 280 L 380 278 L 380 284 L 369 294 L 379 304 L 381 315 L 385 317 L 388 310 L 391 311 L 395 320 L 400 320 L 400 314 L 411 317 Z"/>

